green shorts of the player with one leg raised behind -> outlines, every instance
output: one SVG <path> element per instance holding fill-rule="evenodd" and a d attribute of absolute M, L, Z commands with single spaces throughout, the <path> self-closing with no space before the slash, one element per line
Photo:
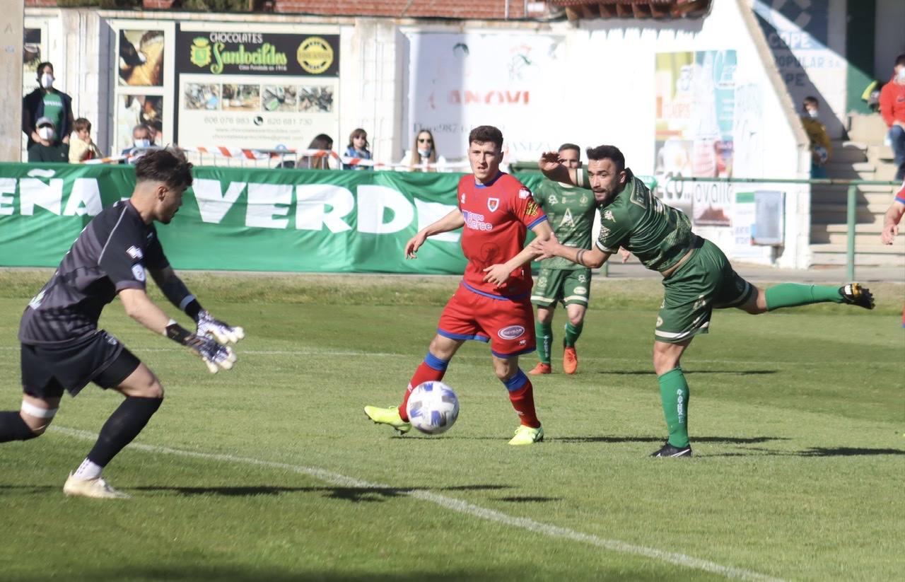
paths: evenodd
<path fill-rule="evenodd" d="M 663 303 L 653 332 L 657 341 L 675 344 L 707 333 L 714 309 L 738 307 L 757 292 L 732 270 L 716 244 L 699 241 L 691 257 L 663 280 Z"/>

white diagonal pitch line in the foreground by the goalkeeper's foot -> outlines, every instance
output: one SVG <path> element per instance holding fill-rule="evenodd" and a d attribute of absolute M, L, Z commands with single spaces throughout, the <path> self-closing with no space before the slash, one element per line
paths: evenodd
<path fill-rule="evenodd" d="M 97 434 L 92 434 L 88 431 L 81 431 L 74 428 L 67 428 L 64 426 L 51 426 L 50 430 L 55 433 L 65 434 L 74 438 L 80 438 L 90 441 L 96 440 L 98 438 Z M 169 454 L 179 457 L 189 457 L 194 459 L 204 459 L 206 461 L 218 461 L 224 463 L 256 465 L 260 467 L 268 467 L 271 469 L 279 469 L 287 472 L 296 472 L 308 475 L 321 482 L 326 482 L 331 485 L 337 485 L 339 487 L 358 487 L 363 489 L 394 489 L 389 485 L 381 485 L 379 483 L 362 481 L 360 479 L 355 479 L 354 477 L 347 477 L 346 475 L 339 474 L 338 472 L 331 472 L 327 471 L 326 469 L 320 469 L 319 467 L 308 467 L 305 465 L 294 465 L 289 463 L 274 463 L 272 461 L 262 461 L 261 459 L 240 457 L 232 454 L 184 451 L 182 449 L 174 449 L 166 446 L 155 446 L 152 444 L 133 443 L 129 444 L 129 448 L 138 449 L 139 451 L 146 451 L 148 453 Z M 620 554 L 643 556 L 644 558 L 651 558 L 684 568 L 692 568 L 704 572 L 710 572 L 711 574 L 717 574 L 719 576 L 731 579 L 757 580 L 763 582 L 783 582 L 782 578 L 769 577 L 767 575 L 759 574 L 757 572 L 753 572 L 744 568 L 722 566 L 720 564 L 717 564 L 716 562 L 710 562 L 708 560 L 700 558 L 693 558 L 691 556 L 686 556 L 685 554 L 678 554 L 656 548 L 648 548 L 646 546 L 636 546 L 634 544 L 620 541 L 618 539 L 599 538 L 595 535 L 582 533 L 576 530 L 569 530 L 567 528 L 560 528 L 554 525 L 549 525 L 547 523 L 541 523 L 540 521 L 529 520 L 528 518 L 513 517 L 497 510 L 490 510 L 481 507 L 480 505 L 475 505 L 467 501 L 440 495 L 439 493 L 433 493 L 430 491 L 402 492 L 406 495 L 409 495 L 410 497 L 414 497 L 415 499 L 421 501 L 429 501 L 448 510 L 453 510 L 465 515 L 471 515 L 472 517 L 480 518 L 481 520 L 495 521 L 512 528 L 519 528 L 520 530 L 529 530 L 534 533 L 547 536 L 548 538 L 578 541 L 590 544 L 597 548 L 608 549 Z"/>

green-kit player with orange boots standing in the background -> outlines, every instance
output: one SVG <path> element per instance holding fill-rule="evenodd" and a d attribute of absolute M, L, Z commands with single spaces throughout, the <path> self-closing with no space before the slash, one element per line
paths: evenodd
<path fill-rule="evenodd" d="M 568 168 L 581 167 L 581 148 L 563 144 L 558 151 L 559 161 Z M 544 180 L 534 191 L 538 205 L 547 213 L 557 240 L 566 246 L 587 249 L 591 246 L 591 229 L 597 203 L 594 195 L 584 188 Z M 553 345 L 553 310 L 557 302 L 566 306 L 568 321 L 563 338 L 563 371 L 575 374 L 578 356 L 575 342 L 585 325 L 587 300 L 591 293 L 591 270 L 561 257 L 540 262 L 540 273 L 531 290 L 531 302 L 538 306 L 534 329 L 538 337 L 540 361 L 529 374 L 549 374 L 550 350 Z"/>

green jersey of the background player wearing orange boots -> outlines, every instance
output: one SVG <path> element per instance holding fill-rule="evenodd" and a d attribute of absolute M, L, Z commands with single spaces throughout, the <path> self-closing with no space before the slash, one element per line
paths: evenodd
<path fill-rule="evenodd" d="M 594 194 L 585 188 L 567 186 L 544 180 L 534 191 L 534 199 L 547 214 L 547 220 L 557 240 L 576 249 L 591 248 L 591 230 L 597 203 Z M 542 269 L 576 271 L 580 264 L 562 257 L 550 257 L 540 262 Z"/>

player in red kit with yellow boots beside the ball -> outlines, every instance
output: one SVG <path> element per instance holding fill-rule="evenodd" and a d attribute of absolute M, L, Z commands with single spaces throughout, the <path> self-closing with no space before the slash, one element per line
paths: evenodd
<path fill-rule="evenodd" d="M 462 253 L 468 266 L 462 283 L 443 308 L 437 335 L 409 381 L 402 404 L 391 408 L 366 406 L 365 414 L 375 423 L 407 433 L 412 425 L 405 415 L 405 404 L 412 388 L 442 379 L 462 343 L 477 339 L 490 342 L 493 369 L 519 414 L 521 424 L 510 444 L 538 443 L 544 438 L 544 430 L 534 410 L 531 382 L 519 369 L 519 356 L 535 349 L 529 262 L 537 253 L 525 248 L 525 234 L 531 229 L 539 239 L 547 240 L 552 231 L 530 190 L 515 177 L 500 172 L 500 129 L 472 129 L 468 142 L 472 175 L 459 181 L 459 207 L 405 244 L 405 257 L 414 259 L 428 236 L 464 226 Z"/>

